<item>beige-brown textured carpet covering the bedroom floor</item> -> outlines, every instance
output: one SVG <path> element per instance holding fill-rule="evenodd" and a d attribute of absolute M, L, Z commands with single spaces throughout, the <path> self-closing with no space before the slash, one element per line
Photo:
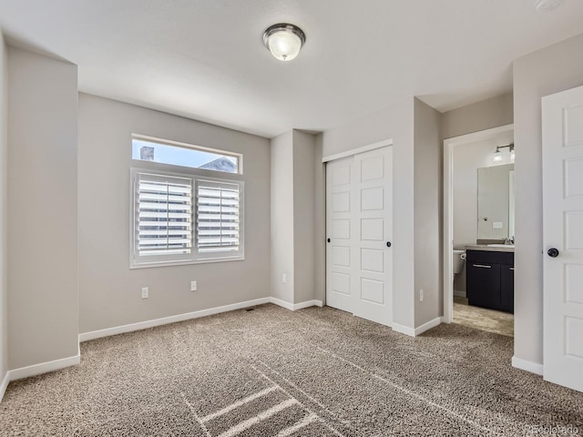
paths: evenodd
<path fill-rule="evenodd" d="M 583 432 L 583 393 L 510 367 L 512 342 L 457 324 L 410 338 L 339 310 L 264 305 L 82 343 L 79 366 L 9 385 L 0 435 Z"/>

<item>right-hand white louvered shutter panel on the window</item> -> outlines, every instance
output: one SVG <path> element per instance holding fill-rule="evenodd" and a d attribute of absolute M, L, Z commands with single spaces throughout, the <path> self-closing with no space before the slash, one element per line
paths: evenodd
<path fill-rule="evenodd" d="M 242 183 L 197 180 L 199 257 L 228 258 L 240 254 L 241 197 Z"/>

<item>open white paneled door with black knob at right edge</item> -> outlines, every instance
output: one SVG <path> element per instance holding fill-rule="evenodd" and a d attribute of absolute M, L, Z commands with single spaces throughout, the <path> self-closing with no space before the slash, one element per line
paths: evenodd
<path fill-rule="evenodd" d="M 544 377 L 583 391 L 583 86 L 542 110 Z"/>

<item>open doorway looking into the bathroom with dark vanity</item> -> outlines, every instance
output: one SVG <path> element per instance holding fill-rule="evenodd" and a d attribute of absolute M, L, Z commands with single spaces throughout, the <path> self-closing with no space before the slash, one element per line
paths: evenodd
<path fill-rule="evenodd" d="M 514 331 L 513 132 L 444 141 L 444 322 L 502 335 Z"/>

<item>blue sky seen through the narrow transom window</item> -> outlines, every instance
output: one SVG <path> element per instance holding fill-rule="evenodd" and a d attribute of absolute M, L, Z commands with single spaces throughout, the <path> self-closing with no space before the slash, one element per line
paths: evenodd
<path fill-rule="evenodd" d="M 146 147 L 143 149 L 143 147 Z M 212 168 L 230 173 L 237 172 L 237 158 L 217 153 L 210 153 L 195 148 L 170 146 L 166 144 L 153 143 L 141 139 L 132 139 L 132 157 L 143 161 L 153 161 L 174 166 L 201 168 L 220 158 L 228 159 L 233 165 L 233 170 L 224 168 Z"/>

